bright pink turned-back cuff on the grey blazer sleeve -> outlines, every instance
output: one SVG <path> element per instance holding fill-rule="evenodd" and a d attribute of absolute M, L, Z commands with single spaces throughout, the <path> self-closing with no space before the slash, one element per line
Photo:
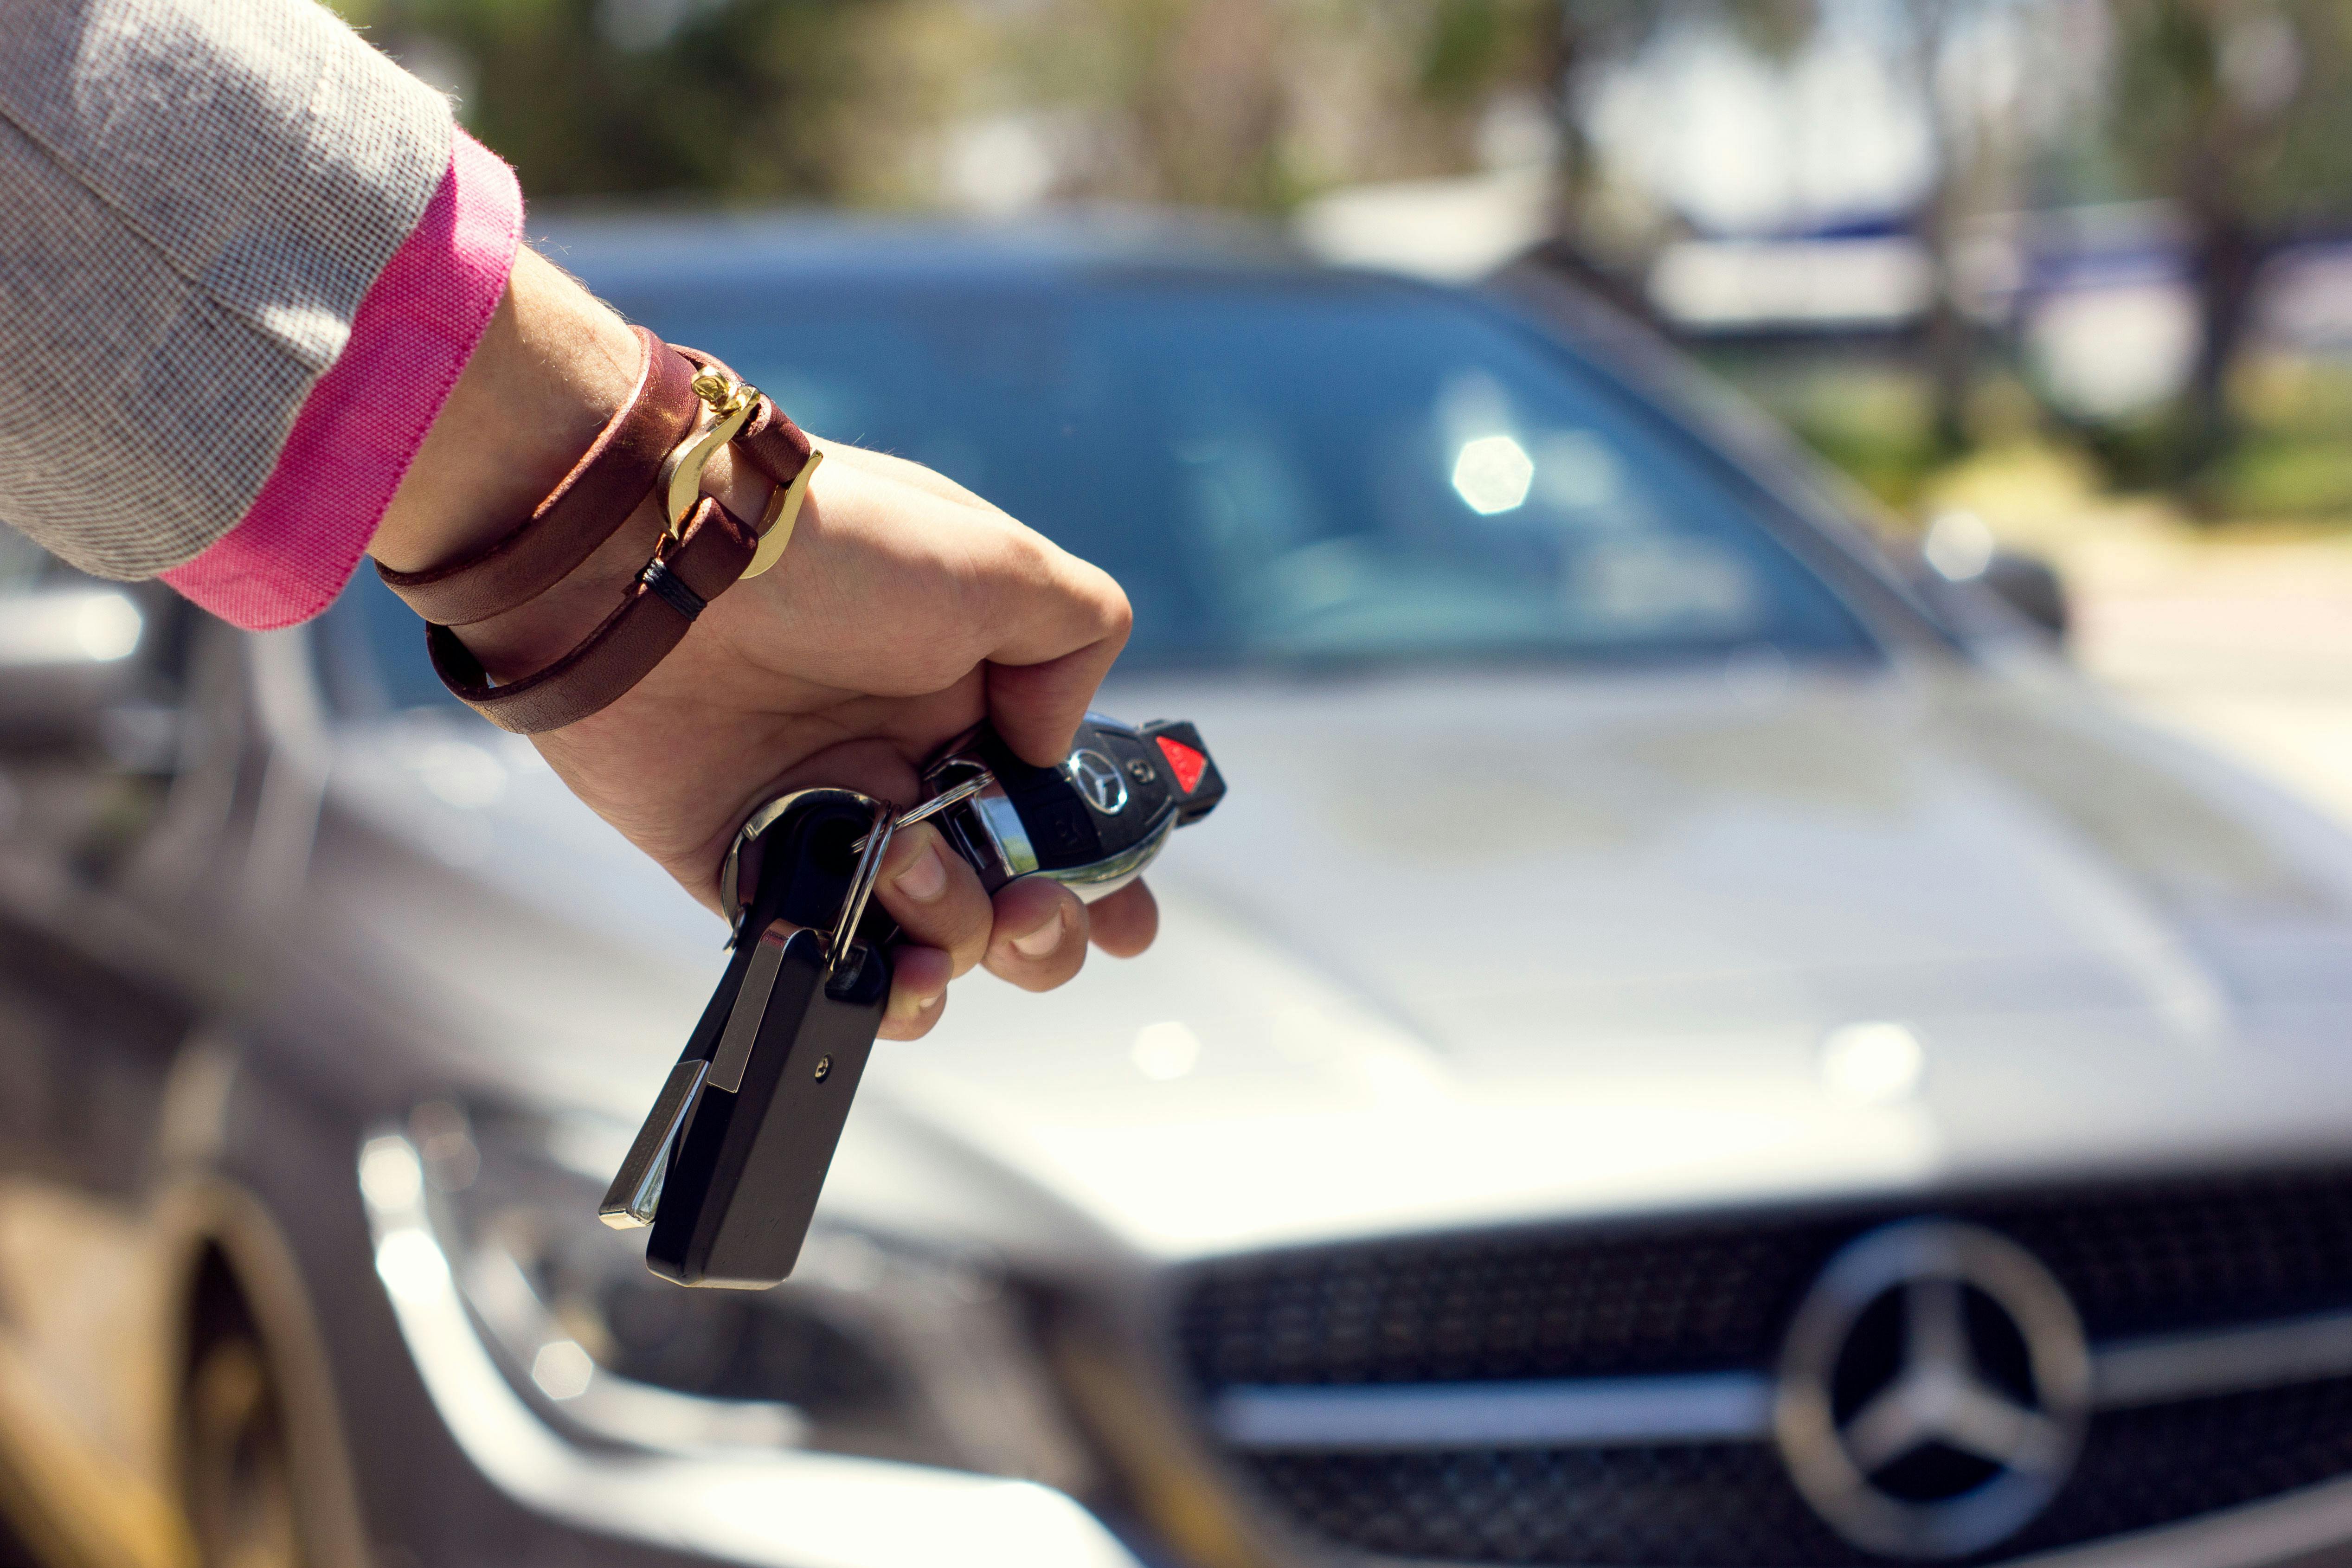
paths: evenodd
<path fill-rule="evenodd" d="M 254 505 L 162 581 L 254 632 L 327 609 L 482 341 L 520 237 L 515 172 L 456 132 L 440 190 L 360 301 Z"/>

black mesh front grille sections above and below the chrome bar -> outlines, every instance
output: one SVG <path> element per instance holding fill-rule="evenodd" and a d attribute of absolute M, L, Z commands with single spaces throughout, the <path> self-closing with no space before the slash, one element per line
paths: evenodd
<path fill-rule="evenodd" d="M 1769 1371 L 1828 1258 L 1919 1208 L 1630 1232 L 1519 1232 L 1240 1258 L 1200 1272 L 1178 1342 L 1200 1392 Z M 2067 1288 L 2093 1342 L 2352 1307 L 2352 1173 L 1994 1194 L 1992 1227 Z M 1879 1561 L 1830 1533 L 1769 1443 L 1237 1455 L 1329 1542 L 1454 1563 L 1780 1568 Z M 2194 1519 L 2352 1474 L 2352 1378 L 2107 1410 L 2060 1495 L 1987 1556 Z"/>

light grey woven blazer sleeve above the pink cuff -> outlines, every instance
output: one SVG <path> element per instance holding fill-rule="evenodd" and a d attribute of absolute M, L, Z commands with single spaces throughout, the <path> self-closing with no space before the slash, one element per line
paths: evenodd
<path fill-rule="evenodd" d="M 0 522 L 113 578 L 228 534 L 449 143 L 308 0 L 0 0 Z"/>

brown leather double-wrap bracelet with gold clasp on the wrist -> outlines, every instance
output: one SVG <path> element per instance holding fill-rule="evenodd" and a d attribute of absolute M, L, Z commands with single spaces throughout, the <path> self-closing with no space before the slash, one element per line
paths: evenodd
<path fill-rule="evenodd" d="M 724 362 L 642 327 L 637 336 L 644 343 L 637 388 L 527 522 L 449 567 L 379 567 L 386 585 L 430 623 L 426 649 L 442 684 L 499 729 L 524 736 L 562 729 L 628 693 L 684 639 L 703 607 L 743 576 L 764 531 L 783 529 L 769 541 L 781 548 L 790 510 L 807 494 L 816 454 L 800 425 Z M 703 414 L 713 418 L 706 423 Z M 654 557 L 621 604 L 555 663 L 492 684 L 454 628 L 501 616 L 564 581 L 670 480 L 689 444 L 708 456 L 706 444 L 727 418 L 741 423 L 729 437 L 734 449 L 776 487 L 762 522 L 748 524 L 717 498 L 694 496 L 696 461 L 680 480 L 684 515 L 666 520 Z"/>

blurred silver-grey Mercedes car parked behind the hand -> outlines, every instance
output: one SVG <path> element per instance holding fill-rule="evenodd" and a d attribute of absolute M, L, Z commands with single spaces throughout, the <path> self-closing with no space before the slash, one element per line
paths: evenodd
<path fill-rule="evenodd" d="M 595 1199 L 720 926 L 369 578 L 247 637 L 12 559 L 45 1559 L 2352 1549 L 2352 842 L 1971 552 L 1891 562 L 1562 313 L 1150 235 L 555 242 L 1110 567 L 1103 705 L 1232 797 L 1152 954 L 877 1051 L 790 1284 L 677 1291 Z"/>

